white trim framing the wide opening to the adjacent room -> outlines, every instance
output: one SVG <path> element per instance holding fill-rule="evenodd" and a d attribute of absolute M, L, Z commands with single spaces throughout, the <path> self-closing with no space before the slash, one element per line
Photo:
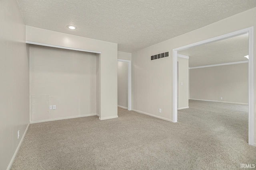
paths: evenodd
<path fill-rule="evenodd" d="M 177 122 L 177 100 L 178 100 L 178 94 L 177 94 L 177 57 L 178 57 L 178 51 L 189 49 L 191 47 L 196 47 L 198 45 L 202 44 L 208 44 L 216 41 L 220 41 L 222 39 L 227 39 L 231 37 L 235 37 L 238 35 L 243 35 L 245 33 L 248 33 L 249 35 L 249 63 L 248 63 L 248 88 L 249 88 L 249 117 L 248 117 L 248 144 L 254 145 L 254 89 L 253 89 L 253 27 L 248 27 L 245 29 L 241 29 L 238 31 L 234 31 L 232 33 L 227 33 L 224 35 L 220 35 L 218 37 L 206 39 L 203 41 L 199 41 L 196 43 L 192 43 L 189 45 L 185 45 L 183 47 L 178 47 L 176 49 L 172 49 L 172 119 L 173 122 Z"/>

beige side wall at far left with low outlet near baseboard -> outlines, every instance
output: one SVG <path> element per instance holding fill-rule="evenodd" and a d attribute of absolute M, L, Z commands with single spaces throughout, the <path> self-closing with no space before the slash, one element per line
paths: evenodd
<path fill-rule="evenodd" d="M 0 1 L 0 21 L 0 169 L 6 170 L 29 123 L 29 67 L 16 0 Z"/>

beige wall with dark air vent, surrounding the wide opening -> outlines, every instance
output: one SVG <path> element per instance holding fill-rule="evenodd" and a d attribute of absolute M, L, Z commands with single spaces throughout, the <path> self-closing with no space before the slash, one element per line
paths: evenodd
<path fill-rule="evenodd" d="M 172 119 L 172 49 L 205 39 L 256 27 L 256 8 L 217 21 L 200 29 L 168 39 L 132 53 L 132 109 Z M 254 30 L 254 70 L 256 68 L 256 31 Z M 150 56 L 170 51 L 170 57 L 150 61 Z M 256 74 L 254 74 L 256 84 Z M 254 86 L 254 122 L 256 122 L 256 86 Z M 191 97 L 190 97 L 191 98 Z M 162 108 L 162 113 L 158 113 Z M 178 120 L 179 121 L 179 120 Z M 254 141 L 256 126 L 254 123 Z M 256 145 L 256 143 L 254 144 Z"/>

